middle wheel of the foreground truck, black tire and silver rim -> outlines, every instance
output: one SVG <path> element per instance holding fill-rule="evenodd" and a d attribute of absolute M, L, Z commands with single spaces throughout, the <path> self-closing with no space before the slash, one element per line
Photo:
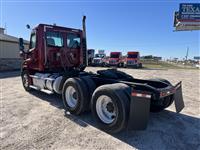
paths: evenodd
<path fill-rule="evenodd" d="M 62 90 L 62 99 L 66 111 L 79 115 L 89 105 L 87 86 L 81 78 L 69 78 Z"/>

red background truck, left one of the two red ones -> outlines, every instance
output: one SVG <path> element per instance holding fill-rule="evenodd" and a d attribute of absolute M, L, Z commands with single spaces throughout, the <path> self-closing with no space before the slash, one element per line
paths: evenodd
<path fill-rule="evenodd" d="M 111 52 L 110 57 L 108 59 L 108 65 L 109 66 L 117 66 L 117 67 L 123 67 L 124 66 L 124 60 L 122 57 L 121 52 Z"/>

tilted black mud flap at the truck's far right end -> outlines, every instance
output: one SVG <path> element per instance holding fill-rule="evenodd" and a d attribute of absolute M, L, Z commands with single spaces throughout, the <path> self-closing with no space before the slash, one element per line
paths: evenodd
<path fill-rule="evenodd" d="M 179 113 L 185 107 L 184 101 L 183 101 L 181 82 L 176 84 L 175 89 L 176 89 L 176 93 L 174 95 L 174 104 L 175 104 L 176 112 Z"/>

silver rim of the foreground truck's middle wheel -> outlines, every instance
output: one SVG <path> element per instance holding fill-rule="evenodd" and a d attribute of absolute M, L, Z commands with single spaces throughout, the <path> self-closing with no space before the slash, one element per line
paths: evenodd
<path fill-rule="evenodd" d="M 65 99 L 67 105 L 71 108 L 75 108 L 78 103 L 77 92 L 73 86 L 68 86 L 65 91 Z"/>

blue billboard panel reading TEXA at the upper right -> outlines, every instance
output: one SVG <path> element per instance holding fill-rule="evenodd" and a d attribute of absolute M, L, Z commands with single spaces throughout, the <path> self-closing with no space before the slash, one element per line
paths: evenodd
<path fill-rule="evenodd" d="M 200 3 L 181 3 L 179 7 L 179 18 L 200 21 Z"/>

